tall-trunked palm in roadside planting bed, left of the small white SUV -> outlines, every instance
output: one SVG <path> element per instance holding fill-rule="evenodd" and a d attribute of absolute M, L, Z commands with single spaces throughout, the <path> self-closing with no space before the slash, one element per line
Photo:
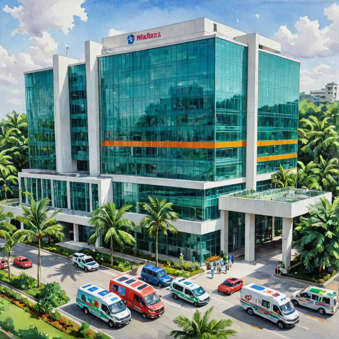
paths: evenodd
<path fill-rule="evenodd" d="M 64 234 L 62 230 L 64 229 L 63 225 L 58 224 L 57 220 L 54 218 L 61 210 L 57 210 L 52 213 L 52 215 L 48 218 L 47 212 L 49 208 L 47 205 L 50 200 L 46 197 L 37 202 L 34 201 L 32 197 L 31 199 L 31 207 L 27 208 L 25 205 L 21 205 L 23 209 L 23 217 L 18 216 L 16 220 L 24 223 L 27 226 L 27 230 L 22 233 L 22 238 L 20 241 L 32 241 L 33 236 L 38 239 L 39 247 L 38 247 L 38 287 L 40 287 L 40 277 L 41 277 L 41 254 L 40 254 L 40 241 L 42 237 L 46 237 L 48 235 L 54 236 L 60 241 L 64 238 Z M 19 232 L 19 231 L 17 231 Z"/>

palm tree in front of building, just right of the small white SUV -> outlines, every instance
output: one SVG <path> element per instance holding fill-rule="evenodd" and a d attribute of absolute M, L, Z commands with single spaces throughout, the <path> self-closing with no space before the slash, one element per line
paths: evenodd
<path fill-rule="evenodd" d="M 135 230 L 136 224 L 131 219 L 123 219 L 125 213 L 132 207 L 132 205 L 123 205 L 117 210 L 115 204 L 109 201 L 93 211 L 92 218 L 89 220 L 89 224 L 97 230 L 89 237 L 88 242 L 95 243 L 100 236 L 104 236 L 104 242 L 110 242 L 111 265 L 113 265 L 113 240 L 120 246 L 123 246 L 123 243 L 132 245 L 136 242 L 134 237 L 127 232 Z"/>

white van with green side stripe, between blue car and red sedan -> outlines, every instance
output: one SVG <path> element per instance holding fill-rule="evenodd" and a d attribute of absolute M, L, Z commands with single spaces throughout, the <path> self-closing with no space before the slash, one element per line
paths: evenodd
<path fill-rule="evenodd" d="M 210 301 L 210 295 L 198 284 L 186 279 L 176 278 L 171 282 L 169 291 L 174 299 L 184 299 L 195 307 L 206 305 Z"/>

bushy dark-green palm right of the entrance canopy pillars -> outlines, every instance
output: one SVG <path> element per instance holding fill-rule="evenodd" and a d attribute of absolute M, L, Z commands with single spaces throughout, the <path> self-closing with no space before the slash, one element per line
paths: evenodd
<path fill-rule="evenodd" d="M 339 265 L 338 205 L 339 198 L 333 204 L 326 198 L 320 198 L 308 207 L 310 215 L 301 216 L 295 228 L 295 248 L 309 272 L 319 267 L 320 274 L 325 267 Z"/>

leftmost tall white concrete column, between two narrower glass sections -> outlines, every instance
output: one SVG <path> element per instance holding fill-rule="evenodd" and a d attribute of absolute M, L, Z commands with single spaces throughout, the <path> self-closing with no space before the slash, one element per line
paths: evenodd
<path fill-rule="evenodd" d="M 57 172 L 72 172 L 68 65 L 79 59 L 53 55 L 54 123 Z"/>

